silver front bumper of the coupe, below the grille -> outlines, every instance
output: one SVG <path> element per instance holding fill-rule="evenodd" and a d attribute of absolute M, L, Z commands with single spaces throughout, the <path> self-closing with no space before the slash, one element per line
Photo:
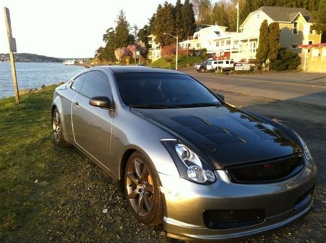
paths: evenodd
<path fill-rule="evenodd" d="M 164 229 L 168 236 L 200 242 L 238 240 L 290 224 L 312 207 L 311 195 L 307 194 L 316 184 L 317 169 L 312 162 L 293 178 L 272 184 L 235 184 L 224 171 L 215 173 L 218 179 L 210 185 L 159 173 L 166 203 Z M 300 198 L 303 200 L 298 203 Z M 204 211 L 246 209 L 263 209 L 264 219 L 258 224 L 230 229 L 209 229 L 204 221 Z"/>

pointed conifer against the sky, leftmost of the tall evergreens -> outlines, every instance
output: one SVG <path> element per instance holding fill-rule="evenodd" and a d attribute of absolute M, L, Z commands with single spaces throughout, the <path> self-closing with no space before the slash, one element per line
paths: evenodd
<path fill-rule="evenodd" d="M 132 38 L 129 35 L 129 23 L 123 10 L 120 10 L 116 24 L 116 47 L 127 47 L 127 45 L 132 43 Z"/>

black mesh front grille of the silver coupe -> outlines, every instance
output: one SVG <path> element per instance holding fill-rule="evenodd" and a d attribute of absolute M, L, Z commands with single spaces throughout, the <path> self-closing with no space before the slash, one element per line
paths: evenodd
<path fill-rule="evenodd" d="M 303 169 L 302 154 L 254 162 L 246 165 L 227 167 L 226 171 L 232 182 L 241 184 L 271 183 L 286 180 Z"/>

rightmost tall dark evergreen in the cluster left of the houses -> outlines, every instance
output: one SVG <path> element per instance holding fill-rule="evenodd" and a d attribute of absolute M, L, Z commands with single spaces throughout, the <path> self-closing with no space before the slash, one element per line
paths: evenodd
<path fill-rule="evenodd" d="M 196 30 L 193 4 L 189 0 L 184 0 L 184 6 L 182 6 L 182 23 L 183 39 L 186 39 L 188 36 L 192 36 Z"/>

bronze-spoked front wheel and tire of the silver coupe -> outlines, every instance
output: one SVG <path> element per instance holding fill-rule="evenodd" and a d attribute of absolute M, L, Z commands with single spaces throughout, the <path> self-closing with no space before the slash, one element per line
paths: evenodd
<path fill-rule="evenodd" d="M 146 225 L 163 222 L 160 182 L 151 163 L 140 152 L 131 154 L 124 171 L 124 191 L 135 218 Z"/>

